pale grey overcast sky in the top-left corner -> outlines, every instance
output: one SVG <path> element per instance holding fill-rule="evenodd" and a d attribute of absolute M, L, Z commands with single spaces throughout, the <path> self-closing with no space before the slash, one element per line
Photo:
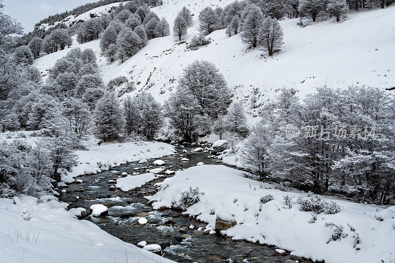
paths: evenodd
<path fill-rule="evenodd" d="M 15 18 L 28 33 L 41 19 L 95 0 L 3 0 L 4 13 Z"/>

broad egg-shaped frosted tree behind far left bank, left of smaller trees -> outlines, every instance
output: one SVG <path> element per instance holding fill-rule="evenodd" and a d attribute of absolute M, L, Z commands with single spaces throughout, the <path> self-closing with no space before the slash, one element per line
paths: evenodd
<path fill-rule="evenodd" d="M 123 133 L 125 119 L 115 92 L 108 92 L 96 105 L 93 113 L 95 133 L 101 140 L 111 142 Z"/>

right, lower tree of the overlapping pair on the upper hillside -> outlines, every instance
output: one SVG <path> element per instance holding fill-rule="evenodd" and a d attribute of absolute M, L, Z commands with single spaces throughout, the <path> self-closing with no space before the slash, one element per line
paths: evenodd
<path fill-rule="evenodd" d="M 281 48 L 283 35 L 280 23 L 276 19 L 268 17 L 263 21 L 259 31 L 258 45 L 267 51 L 269 56 L 272 56 L 275 50 Z"/>

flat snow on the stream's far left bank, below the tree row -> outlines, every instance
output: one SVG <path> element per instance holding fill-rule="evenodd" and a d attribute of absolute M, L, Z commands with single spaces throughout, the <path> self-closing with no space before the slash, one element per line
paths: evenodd
<path fill-rule="evenodd" d="M 27 135 L 27 138 L 7 138 L 6 134 L 0 134 L 0 141 L 12 142 L 13 140 L 26 140 L 34 145 L 42 137 L 30 137 L 31 132 L 19 132 Z M 12 134 L 12 133 L 8 133 Z M 18 134 L 18 133 L 16 133 Z M 91 139 L 85 143 L 88 150 L 77 150 L 78 165 L 73 167 L 71 172 L 64 171 L 62 181 L 72 183 L 74 177 L 83 174 L 94 174 L 110 169 L 111 167 L 124 164 L 126 162 L 140 161 L 141 159 L 158 158 L 175 152 L 174 146 L 159 142 L 130 142 L 97 145 L 99 140 Z"/>

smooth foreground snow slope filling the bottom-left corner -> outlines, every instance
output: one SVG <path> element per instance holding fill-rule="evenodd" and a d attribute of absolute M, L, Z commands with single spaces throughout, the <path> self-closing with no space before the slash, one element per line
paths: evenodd
<path fill-rule="evenodd" d="M 21 218 L 24 209 L 30 220 Z M 0 261 L 7 263 L 173 262 L 123 242 L 89 221 L 79 221 L 63 208 L 44 203 L 15 205 L 3 198 L 0 198 L 0 255 Z"/>

